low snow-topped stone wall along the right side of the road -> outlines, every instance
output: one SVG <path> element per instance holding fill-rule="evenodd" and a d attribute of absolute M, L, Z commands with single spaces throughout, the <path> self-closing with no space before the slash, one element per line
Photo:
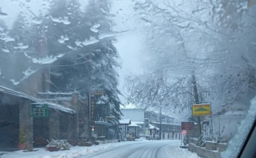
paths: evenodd
<path fill-rule="evenodd" d="M 204 158 L 221 158 L 221 152 L 227 149 L 226 143 L 206 141 L 205 147 L 196 146 L 197 139 L 189 138 L 188 150 Z"/>

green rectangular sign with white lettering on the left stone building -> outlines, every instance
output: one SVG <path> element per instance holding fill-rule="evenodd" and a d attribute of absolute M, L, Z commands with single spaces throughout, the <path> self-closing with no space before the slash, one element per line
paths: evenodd
<path fill-rule="evenodd" d="M 32 103 L 31 116 L 32 117 L 49 117 L 49 106 L 47 104 Z"/>

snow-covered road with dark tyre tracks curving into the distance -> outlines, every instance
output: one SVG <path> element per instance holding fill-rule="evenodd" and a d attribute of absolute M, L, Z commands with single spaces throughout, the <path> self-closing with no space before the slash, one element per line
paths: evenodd
<path fill-rule="evenodd" d="M 199 158 L 179 147 L 179 140 L 163 140 L 120 147 L 87 154 L 79 158 Z"/>

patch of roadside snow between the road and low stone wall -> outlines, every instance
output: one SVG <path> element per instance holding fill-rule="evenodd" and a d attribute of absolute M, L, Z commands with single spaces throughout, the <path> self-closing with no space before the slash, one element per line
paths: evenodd
<path fill-rule="evenodd" d="M 188 151 L 188 149 L 183 149 L 178 146 L 169 146 L 168 155 L 170 158 L 201 158 L 194 152 Z"/>

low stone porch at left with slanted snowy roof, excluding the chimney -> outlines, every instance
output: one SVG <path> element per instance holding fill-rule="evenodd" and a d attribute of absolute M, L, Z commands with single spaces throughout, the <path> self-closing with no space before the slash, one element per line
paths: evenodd
<path fill-rule="evenodd" d="M 32 104 L 46 105 L 48 109 L 42 112 L 42 108 L 38 108 L 38 112 Z M 58 139 L 60 126 L 67 129 L 65 136 L 63 134 L 65 139 L 71 143 L 77 139 L 77 113 L 62 105 L 44 102 L 26 93 L 0 86 L 0 113 L 0 148 L 17 148 L 22 132 L 26 149 L 32 150 L 38 137 L 43 140 Z"/>

